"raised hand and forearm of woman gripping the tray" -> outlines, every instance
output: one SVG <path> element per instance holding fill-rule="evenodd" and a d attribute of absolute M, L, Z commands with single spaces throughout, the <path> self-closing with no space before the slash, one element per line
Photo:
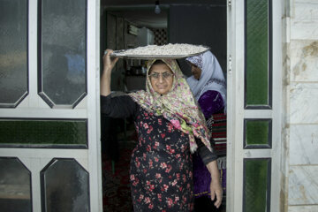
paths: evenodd
<path fill-rule="evenodd" d="M 106 49 L 107 53 L 102 57 L 103 70 L 101 77 L 101 95 L 110 95 L 110 76 L 111 70 L 114 68 L 118 61 L 118 57 L 110 59 L 110 54 L 113 52 L 111 49 Z"/>

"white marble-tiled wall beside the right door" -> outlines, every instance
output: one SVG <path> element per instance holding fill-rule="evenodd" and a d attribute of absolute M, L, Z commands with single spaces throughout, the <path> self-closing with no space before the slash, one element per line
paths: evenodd
<path fill-rule="evenodd" d="M 318 211 L 318 1 L 285 0 L 282 211 Z"/>

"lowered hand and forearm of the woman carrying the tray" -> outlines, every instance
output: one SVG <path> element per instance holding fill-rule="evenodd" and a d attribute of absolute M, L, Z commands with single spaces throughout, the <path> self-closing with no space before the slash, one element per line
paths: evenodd
<path fill-rule="evenodd" d="M 208 171 L 211 175 L 211 200 L 215 201 L 216 208 L 220 208 L 223 199 L 223 190 L 220 182 L 220 172 L 217 169 L 216 160 L 207 164 Z"/>

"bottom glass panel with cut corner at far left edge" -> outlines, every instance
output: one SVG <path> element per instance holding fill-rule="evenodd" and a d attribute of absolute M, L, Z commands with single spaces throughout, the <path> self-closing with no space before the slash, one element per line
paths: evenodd
<path fill-rule="evenodd" d="M 5 212 L 32 211 L 31 172 L 17 158 L 0 157 L 0 206 Z"/>

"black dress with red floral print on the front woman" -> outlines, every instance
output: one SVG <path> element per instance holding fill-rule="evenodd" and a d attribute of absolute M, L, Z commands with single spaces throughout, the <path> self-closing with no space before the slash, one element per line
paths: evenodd
<path fill-rule="evenodd" d="M 193 163 L 189 137 L 162 116 L 155 116 L 128 95 L 101 97 L 102 113 L 133 117 L 139 142 L 130 168 L 134 211 L 192 211 Z M 205 163 L 216 155 L 200 144 Z"/>

